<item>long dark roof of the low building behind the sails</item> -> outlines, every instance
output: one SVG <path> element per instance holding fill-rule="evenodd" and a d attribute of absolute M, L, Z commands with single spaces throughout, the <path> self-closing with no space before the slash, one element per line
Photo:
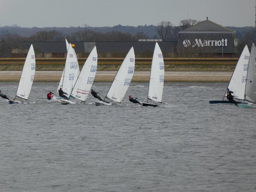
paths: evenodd
<path fill-rule="evenodd" d="M 139 41 L 100 41 L 100 42 L 70 42 L 75 44 L 76 53 L 90 53 L 94 46 L 97 47 L 98 53 L 122 53 L 128 52 L 133 46 L 134 52 L 153 52 L 156 42 L 139 42 Z M 176 51 L 177 41 L 157 42 L 162 52 L 170 53 Z M 23 48 L 29 49 L 33 44 L 35 52 L 43 53 L 66 53 L 66 43 L 63 42 L 24 42 Z"/>

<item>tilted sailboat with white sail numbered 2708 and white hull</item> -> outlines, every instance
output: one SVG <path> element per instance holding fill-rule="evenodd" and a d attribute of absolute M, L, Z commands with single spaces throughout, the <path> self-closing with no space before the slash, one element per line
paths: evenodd
<path fill-rule="evenodd" d="M 129 85 L 131 84 L 134 67 L 135 54 L 132 47 L 117 71 L 105 99 L 103 101 L 95 101 L 95 105 L 112 105 L 113 101 L 121 103 Z M 107 102 L 105 101 L 106 99 L 110 101 Z"/>

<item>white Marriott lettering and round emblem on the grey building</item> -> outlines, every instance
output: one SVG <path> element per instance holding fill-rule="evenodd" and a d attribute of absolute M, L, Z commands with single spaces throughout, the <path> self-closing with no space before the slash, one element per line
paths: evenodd
<path fill-rule="evenodd" d="M 191 45 L 191 42 L 186 39 L 183 41 L 184 47 L 189 47 Z M 195 44 L 192 45 L 192 47 L 206 47 L 206 46 L 228 46 L 228 39 L 221 39 L 221 40 L 204 40 L 201 39 L 195 39 Z"/>

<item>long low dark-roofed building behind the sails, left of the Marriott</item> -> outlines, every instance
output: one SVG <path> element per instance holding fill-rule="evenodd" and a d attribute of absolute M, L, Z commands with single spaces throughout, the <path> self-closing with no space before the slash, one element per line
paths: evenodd
<path fill-rule="evenodd" d="M 166 57 L 172 57 L 176 53 L 177 41 L 157 42 Z M 61 58 L 66 57 L 66 43 L 63 42 L 24 42 L 23 50 L 12 50 L 12 57 L 24 57 L 24 52 L 28 52 L 33 44 L 36 58 Z M 75 44 L 77 57 L 87 57 L 93 47 L 97 47 L 98 57 L 125 57 L 133 46 L 136 57 L 152 57 L 156 42 L 154 41 L 126 41 L 126 42 L 71 42 Z"/>

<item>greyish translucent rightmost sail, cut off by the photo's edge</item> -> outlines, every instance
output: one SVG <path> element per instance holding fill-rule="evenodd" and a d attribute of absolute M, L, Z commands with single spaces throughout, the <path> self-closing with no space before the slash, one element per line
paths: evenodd
<path fill-rule="evenodd" d="M 247 71 L 244 100 L 256 103 L 256 49 L 252 44 Z"/>

